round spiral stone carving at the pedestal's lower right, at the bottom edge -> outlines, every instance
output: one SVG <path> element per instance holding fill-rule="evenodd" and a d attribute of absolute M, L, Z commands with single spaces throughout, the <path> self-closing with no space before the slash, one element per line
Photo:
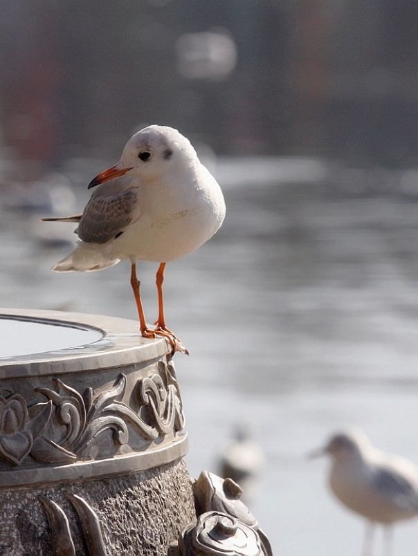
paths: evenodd
<path fill-rule="evenodd" d="M 172 552 L 173 553 L 173 552 Z M 185 528 L 179 556 L 263 556 L 260 539 L 251 527 L 222 512 L 206 512 Z"/>

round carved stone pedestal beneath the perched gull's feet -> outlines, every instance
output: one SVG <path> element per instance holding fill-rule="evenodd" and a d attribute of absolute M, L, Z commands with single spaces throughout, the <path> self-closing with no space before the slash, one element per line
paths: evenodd
<path fill-rule="evenodd" d="M 0 555 L 165 555 L 196 519 L 165 340 L 75 313 L 3 309 L 8 323 L 33 326 L 39 353 L 0 351 Z"/>

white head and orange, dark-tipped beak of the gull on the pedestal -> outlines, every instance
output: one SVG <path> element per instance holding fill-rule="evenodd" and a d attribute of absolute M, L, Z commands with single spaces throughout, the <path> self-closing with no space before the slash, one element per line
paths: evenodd
<path fill-rule="evenodd" d="M 197 163 L 196 151 L 179 131 L 172 127 L 151 125 L 129 139 L 118 164 L 91 180 L 89 189 L 127 172 L 129 176 L 150 183 L 176 169 L 188 169 Z"/>

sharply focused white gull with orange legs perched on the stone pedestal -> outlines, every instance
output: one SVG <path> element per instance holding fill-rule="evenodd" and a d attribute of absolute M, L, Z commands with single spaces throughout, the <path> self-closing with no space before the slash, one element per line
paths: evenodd
<path fill-rule="evenodd" d="M 129 139 L 120 161 L 91 180 L 91 187 L 97 189 L 82 214 L 44 219 L 78 223 L 77 247 L 52 270 L 90 272 L 130 261 L 141 335 L 165 337 L 173 353 L 188 353 L 165 324 L 164 270 L 219 230 L 226 207 L 217 181 L 179 131 L 151 125 Z M 145 321 L 136 261 L 159 263 L 153 329 Z"/>

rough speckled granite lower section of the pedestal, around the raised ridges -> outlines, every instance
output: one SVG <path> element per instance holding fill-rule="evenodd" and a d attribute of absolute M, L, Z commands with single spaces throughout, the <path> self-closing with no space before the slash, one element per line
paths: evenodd
<path fill-rule="evenodd" d="M 107 555 L 160 556 L 196 519 L 190 476 L 183 459 L 142 472 L 92 481 L 0 493 L 0 555 L 57 554 L 39 495 L 68 518 L 76 555 L 91 555 L 66 493 L 78 494 L 96 513 Z M 59 544 L 59 543 L 58 543 Z"/>

